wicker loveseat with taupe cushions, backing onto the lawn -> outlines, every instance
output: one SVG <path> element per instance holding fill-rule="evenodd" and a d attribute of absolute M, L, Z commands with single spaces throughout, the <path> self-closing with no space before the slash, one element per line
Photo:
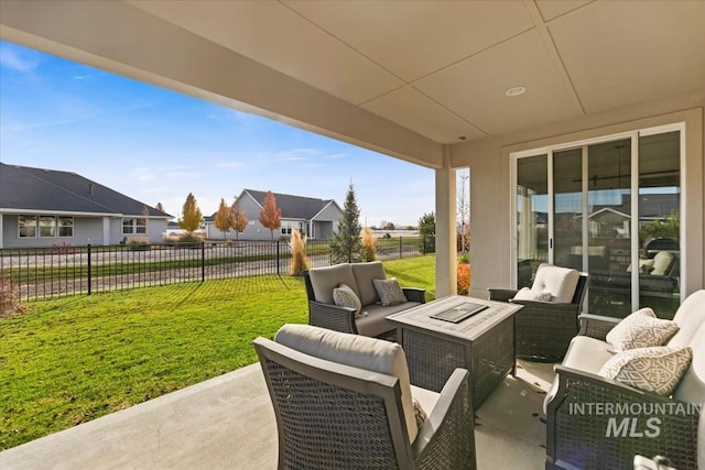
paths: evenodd
<path fill-rule="evenodd" d="M 384 337 L 394 329 L 386 319 L 388 315 L 426 302 L 425 289 L 403 287 L 400 303 L 382 305 L 373 282 L 387 280 L 381 261 L 315 267 L 304 273 L 304 280 L 308 296 L 308 324 L 343 332 Z M 391 280 L 389 282 L 393 284 Z M 354 306 L 336 305 L 334 289 L 340 285 L 352 289 L 359 300 L 359 311 Z"/>

